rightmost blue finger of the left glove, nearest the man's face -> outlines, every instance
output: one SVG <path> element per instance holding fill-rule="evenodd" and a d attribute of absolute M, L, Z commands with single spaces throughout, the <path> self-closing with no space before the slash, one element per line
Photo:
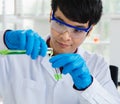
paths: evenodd
<path fill-rule="evenodd" d="M 46 42 L 41 38 L 41 37 L 39 37 L 39 39 L 40 39 L 40 52 L 39 52 L 39 55 L 41 55 L 41 56 L 45 56 L 46 55 L 46 53 L 47 53 L 47 44 L 46 44 Z"/>

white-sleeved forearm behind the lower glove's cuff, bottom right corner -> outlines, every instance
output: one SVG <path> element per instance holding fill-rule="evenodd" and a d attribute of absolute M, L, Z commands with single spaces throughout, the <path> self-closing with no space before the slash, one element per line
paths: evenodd
<path fill-rule="evenodd" d="M 77 94 L 85 99 L 86 103 L 84 102 L 84 104 L 120 104 L 120 96 L 110 94 L 95 78 L 93 78 L 93 83 L 89 88 L 77 91 Z M 79 99 L 82 101 L 81 97 Z"/>

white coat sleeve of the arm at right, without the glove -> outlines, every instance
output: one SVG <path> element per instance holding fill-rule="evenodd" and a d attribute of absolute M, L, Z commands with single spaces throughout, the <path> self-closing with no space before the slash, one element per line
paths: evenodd
<path fill-rule="evenodd" d="M 87 65 L 94 79 L 92 85 L 85 91 L 81 91 L 81 94 L 84 97 L 86 94 L 91 95 L 88 96 L 88 99 L 90 98 L 94 103 L 102 104 L 104 102 L 103 104 L 119 104 L 120 94 L 111 80 L 109 64 L 103 57 L 92 55 Z"/>

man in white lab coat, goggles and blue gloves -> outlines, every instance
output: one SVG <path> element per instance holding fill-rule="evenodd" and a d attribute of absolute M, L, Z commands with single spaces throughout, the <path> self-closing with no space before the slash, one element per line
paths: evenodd
<path fill-rule="evenodd" d="M 120 104 L 109 65 L 81 49 L 100 20 L 101 0 L 52 0 L 51 6 L 46 42 L 32 30 L 4 34 L 1 47 L 26 50 L 28 55 L 0 58 L 4 104 Z M 52 57 L 46 54 L 47 47 L 53 48 Z"/>

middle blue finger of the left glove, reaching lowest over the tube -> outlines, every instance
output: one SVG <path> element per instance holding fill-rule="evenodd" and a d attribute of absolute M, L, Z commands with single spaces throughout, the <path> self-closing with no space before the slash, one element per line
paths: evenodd
<path fill-rule="evenodd" d="M 40 50 L 40 40 L 38 38 L 38 36 L 35 37 L 35 41 L 34 41 L 34 47 L 31 53 L 31 58 L 32 59 L 36 59 L 39 55 L 39 50 Z"/>

